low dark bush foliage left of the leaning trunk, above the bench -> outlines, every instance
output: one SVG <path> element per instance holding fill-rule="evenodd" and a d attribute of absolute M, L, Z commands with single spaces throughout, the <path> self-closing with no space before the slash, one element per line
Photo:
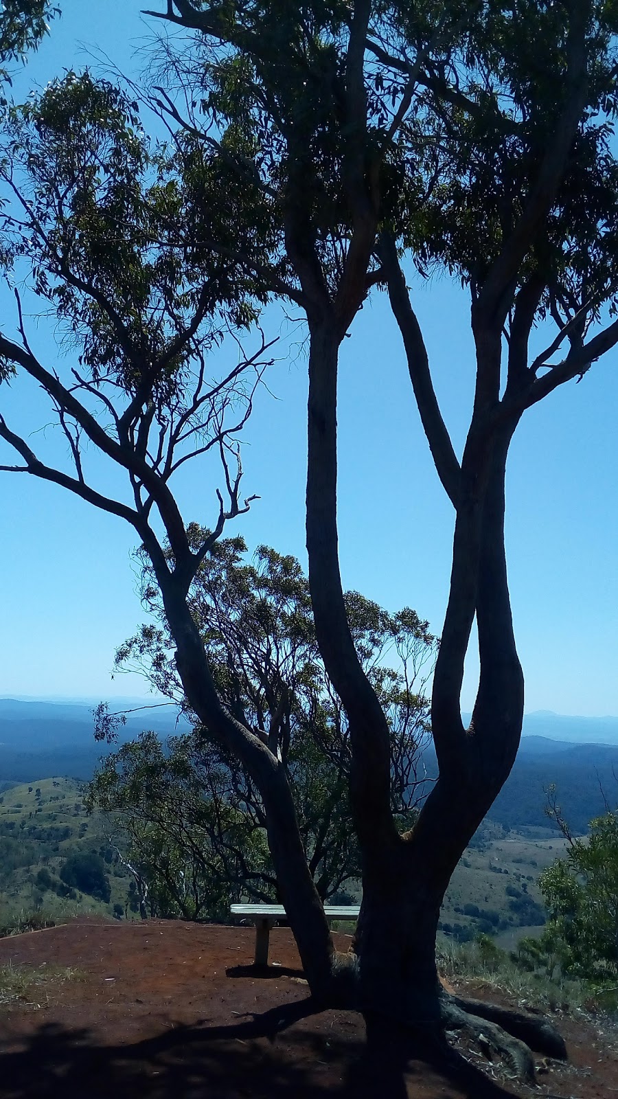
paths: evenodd
<path fill-rule="evenodd" d="M 266 899 L 273 889 L 263 830 L 192 735 L 164 746 L 142 733 L 124 744 L 95 775 L 87 803 L 113 821 L 143 914 L 220 919 L 241 890 Z"/>

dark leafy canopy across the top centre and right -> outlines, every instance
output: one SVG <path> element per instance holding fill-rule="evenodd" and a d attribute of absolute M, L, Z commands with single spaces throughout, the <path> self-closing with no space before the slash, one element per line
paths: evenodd
<path fill-rule="evenodd" d="M 201 33 L 183 56 L 166 46 L 157 77 L 169 77 L 167 91 L 157 87 L 153 102 L 216 152 L 230 201 L 241 186 L 250 192 L 245 213 L 268 245 L 258 264 L 244 249 L 246 270 L 260 267 L 271 293 L 297 291 L 297 253 L 319 262 L 333 300 L 361 187 L 376 225 L 393 231 L 421 274 L 446 268 L 477 292 L 547 169 L 581 31 L 581 122 L 512 295 L 532 275 L 543 281 L 537 319 L 551 315 L 559 328 L 582 308 L 586 328 L 614 303 L 615 4 L 585 4 L 578 15 L 555 3 L 371 4 L 355 91 L 351 12 L 338 0 L 252 0 L 203 14 L 203 5 L 178 7 Z"/>

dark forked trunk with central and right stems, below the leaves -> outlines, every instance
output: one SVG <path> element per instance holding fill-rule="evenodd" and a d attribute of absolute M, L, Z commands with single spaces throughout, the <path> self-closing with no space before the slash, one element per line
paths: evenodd
<path fill-rule="evenodd" d="M 509 774 L 521 730 L 521 668 L 504 562 L 504 476 L 512 425 L 496 440 L 483 430 L 482 410 L 466 446 L 451 595 L 435 677 L 441 776 L 412 832 L 401 837 L 389 809 L 388 726 L 354 651 L 339 571 L 338 352 L 332 326 L 313 326 L 307 546 L 318 642 L 350 722 L 351 802 L 363 868 L 363 903 L 354 943 L 360 1004 L 399 1019 L 427 1019 L 428 1013 L 439 1015 L 441 1010 L 435 970 L 440 906 L 463 851 Z M 466 733 L 459 700 L 475 613 L 481 640 L 488 639 L 495 653 L 482 653 L 478 728 Z"/>

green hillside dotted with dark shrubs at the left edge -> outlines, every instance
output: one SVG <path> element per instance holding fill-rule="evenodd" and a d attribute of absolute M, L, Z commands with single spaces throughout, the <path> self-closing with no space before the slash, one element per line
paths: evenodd
<path fill-rule="evenodd" d="M 75 879 L 76 856 L 82 888 Z M 91 870 L 93 884 L 84 867 Z M 43 778 L 0 795 L 0 929 L 36 922 L 37 915 L 55 922 L 79 912 L 109 918 L 114 906 L 124 913 L 129 885 L 101 818 L 86 813 L 82 784 Z M 109 900 L 103 899 L 108 891 Z"/>

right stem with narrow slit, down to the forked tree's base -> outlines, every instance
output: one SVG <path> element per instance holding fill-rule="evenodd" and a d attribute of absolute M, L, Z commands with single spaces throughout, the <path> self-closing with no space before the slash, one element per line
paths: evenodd
<path fill-rule="evenodd" d="M 440 907 L 474 832 L 506 781 L 523 714 L 504 548 L 504 482 L 514 424 L 498 437 L 472 435 L 462 468 L 451 593 L 434 679 L 440 777 L 412 831 L 369 853 L 355 940 L 366 1008 L 440 1020 L 450 1008 L 435 970 Z M 481 682 L 473 722 L 463 729 L 460 691 L 474 615 Z M 377 857 L 376 857 L 377 855 Z M 448 1009 L 448 1010 L 446 1010 Z"/>

